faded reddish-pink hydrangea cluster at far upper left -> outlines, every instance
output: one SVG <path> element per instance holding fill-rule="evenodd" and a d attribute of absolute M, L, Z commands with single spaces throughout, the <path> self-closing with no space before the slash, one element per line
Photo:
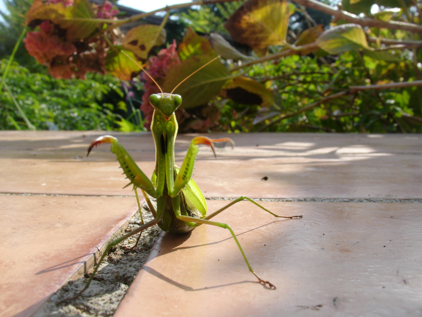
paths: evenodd
<path fill-rule="evenodd" d="M 54 33 L 54 25 L 46 20 L 39 25 L 39 31 L 27 32 L 24 39 L 25 48 L 38 62 L 49 66 L 57 55 L 71 55 L 76 52 L 76 47 L 63 41 Z"/>

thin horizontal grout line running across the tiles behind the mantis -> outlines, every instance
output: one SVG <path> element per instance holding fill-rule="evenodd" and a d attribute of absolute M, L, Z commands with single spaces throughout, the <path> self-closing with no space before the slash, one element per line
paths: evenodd
<path fill-rule="evenodd" d="M 51 196 L 51 197 L 135 197 L 132 195 L 78 195 L 78 194 L 32 194 L 32 193 L 1 193 L 0 196 Z M 233 197 L 205 197 L 206 200 L 225 200 L 232 201 L 237 198 Z M 254 201 L 261 202 L 412 202 L 420 203 L 420 198 L 251 198 Z"/>

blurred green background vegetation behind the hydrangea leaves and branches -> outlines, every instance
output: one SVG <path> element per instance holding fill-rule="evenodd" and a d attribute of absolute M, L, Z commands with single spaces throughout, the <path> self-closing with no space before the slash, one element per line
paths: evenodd
<path fill-rule="evenodd" d="M 9 12 L 1 14 L 4 22 L 0 23 L 0 75 L 22 33 L 25 14 L 32 4 L 32 0 L 1 1 L 5 2 Z M 421 3 L 413 1 L 390 1 L 384 5 L 381 1 L 378 4 L 384 15 L 379 16 L 385 21 L 422 25 Z M 342 6 L 354 14 L 374 17 L 371 7 L 375 2 L 361 2 L 351 4 L 346 0 Z M 219 33 L 245 55 L 262 54 L 235 43 L 224 28 L 225 21 L 242 3 L 236 1 L 171 11 L 171 19 L 166 25 L 167 44 L 172 43 L 173 38 L 179 44 L 187 27 L 191 27 L 206 38 L 210 33 Z M 310 27 L 322 24 L 327 29 L 330 23 L 344 23 L 315 9 L 298 4 L 295 8 L 287 33 L 287 41 L 291 44 Z M 365 34 L 368 38 L 420 41 L 419 34 L 403 30 L 366 27 Z M 155 47 L 150 55 L 156 55 L 167 44 Z M 379 42 L 371 45 L 380 47 Z M 422 132 L 421 86 L 348 93 L 301 111 L 321 101 L 328 93 L 342 92 L 349 86 L 421 80 L 422 49 L 419 47 L 398 48 L 382 56 L 362 50 L 330 55 L 319 49 L 308 55 L 281 57 L 251 66 L 245 75 L 272 92 L 273 104 L 264 107 L 254 98 L 247 100 L 223 93 L 206 105 L 187 110 L 188 116 L 193 118 L 212 118 L 210 125 L 190 124 L 182 126 L 181 131 Z M 279 47 L 270 46 L 267 54 L 278 51 Z M 27 129 L 22 118 L 24 112 L 36 129 L 144 130 L 144 116 L 139 110 L 142 79 L 121 82 L 110 74 L 89 74 L 87 79 L 54 79 L 21 43 L 5 84 L 11 94 L 6 90 L 0 92 L 1 129 Z"/>

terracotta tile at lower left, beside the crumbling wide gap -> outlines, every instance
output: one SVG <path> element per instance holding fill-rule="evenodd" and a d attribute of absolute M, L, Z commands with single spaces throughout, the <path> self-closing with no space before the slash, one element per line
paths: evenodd
<path fill-rule="evenodd" d="M 137 209 L 132 197 L 0 196 L 0 316 L 31 316 Z"/>

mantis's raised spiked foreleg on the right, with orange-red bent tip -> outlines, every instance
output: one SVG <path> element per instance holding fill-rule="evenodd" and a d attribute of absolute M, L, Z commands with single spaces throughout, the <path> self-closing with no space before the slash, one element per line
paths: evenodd
<path fill-rule="evenodd" d="M 223 139 L 210 139 L 208 137 L 195 137 L 190 142 L 189 148 L 187 150 L 186 156 L 183 160 L 182 166 L 180 167 L 179 173 L 174 180 L 173 189 L 169 188 L 168 194 L 171 197 L 176 197 L 179 194 L 179 191 L 186 186 L 189 182 L 190 178 L 192 177 L 193 172 L 193 165 L 195 163 L 195 157 L 198 153 L 198 145 L 205 144 L 211 147 L 211 150 L 216 157 L 214 144 L 213 142 L 230 142 L 232 148 L 234 146 L 234 142 L 232 139 L 223 138 Z"/>

